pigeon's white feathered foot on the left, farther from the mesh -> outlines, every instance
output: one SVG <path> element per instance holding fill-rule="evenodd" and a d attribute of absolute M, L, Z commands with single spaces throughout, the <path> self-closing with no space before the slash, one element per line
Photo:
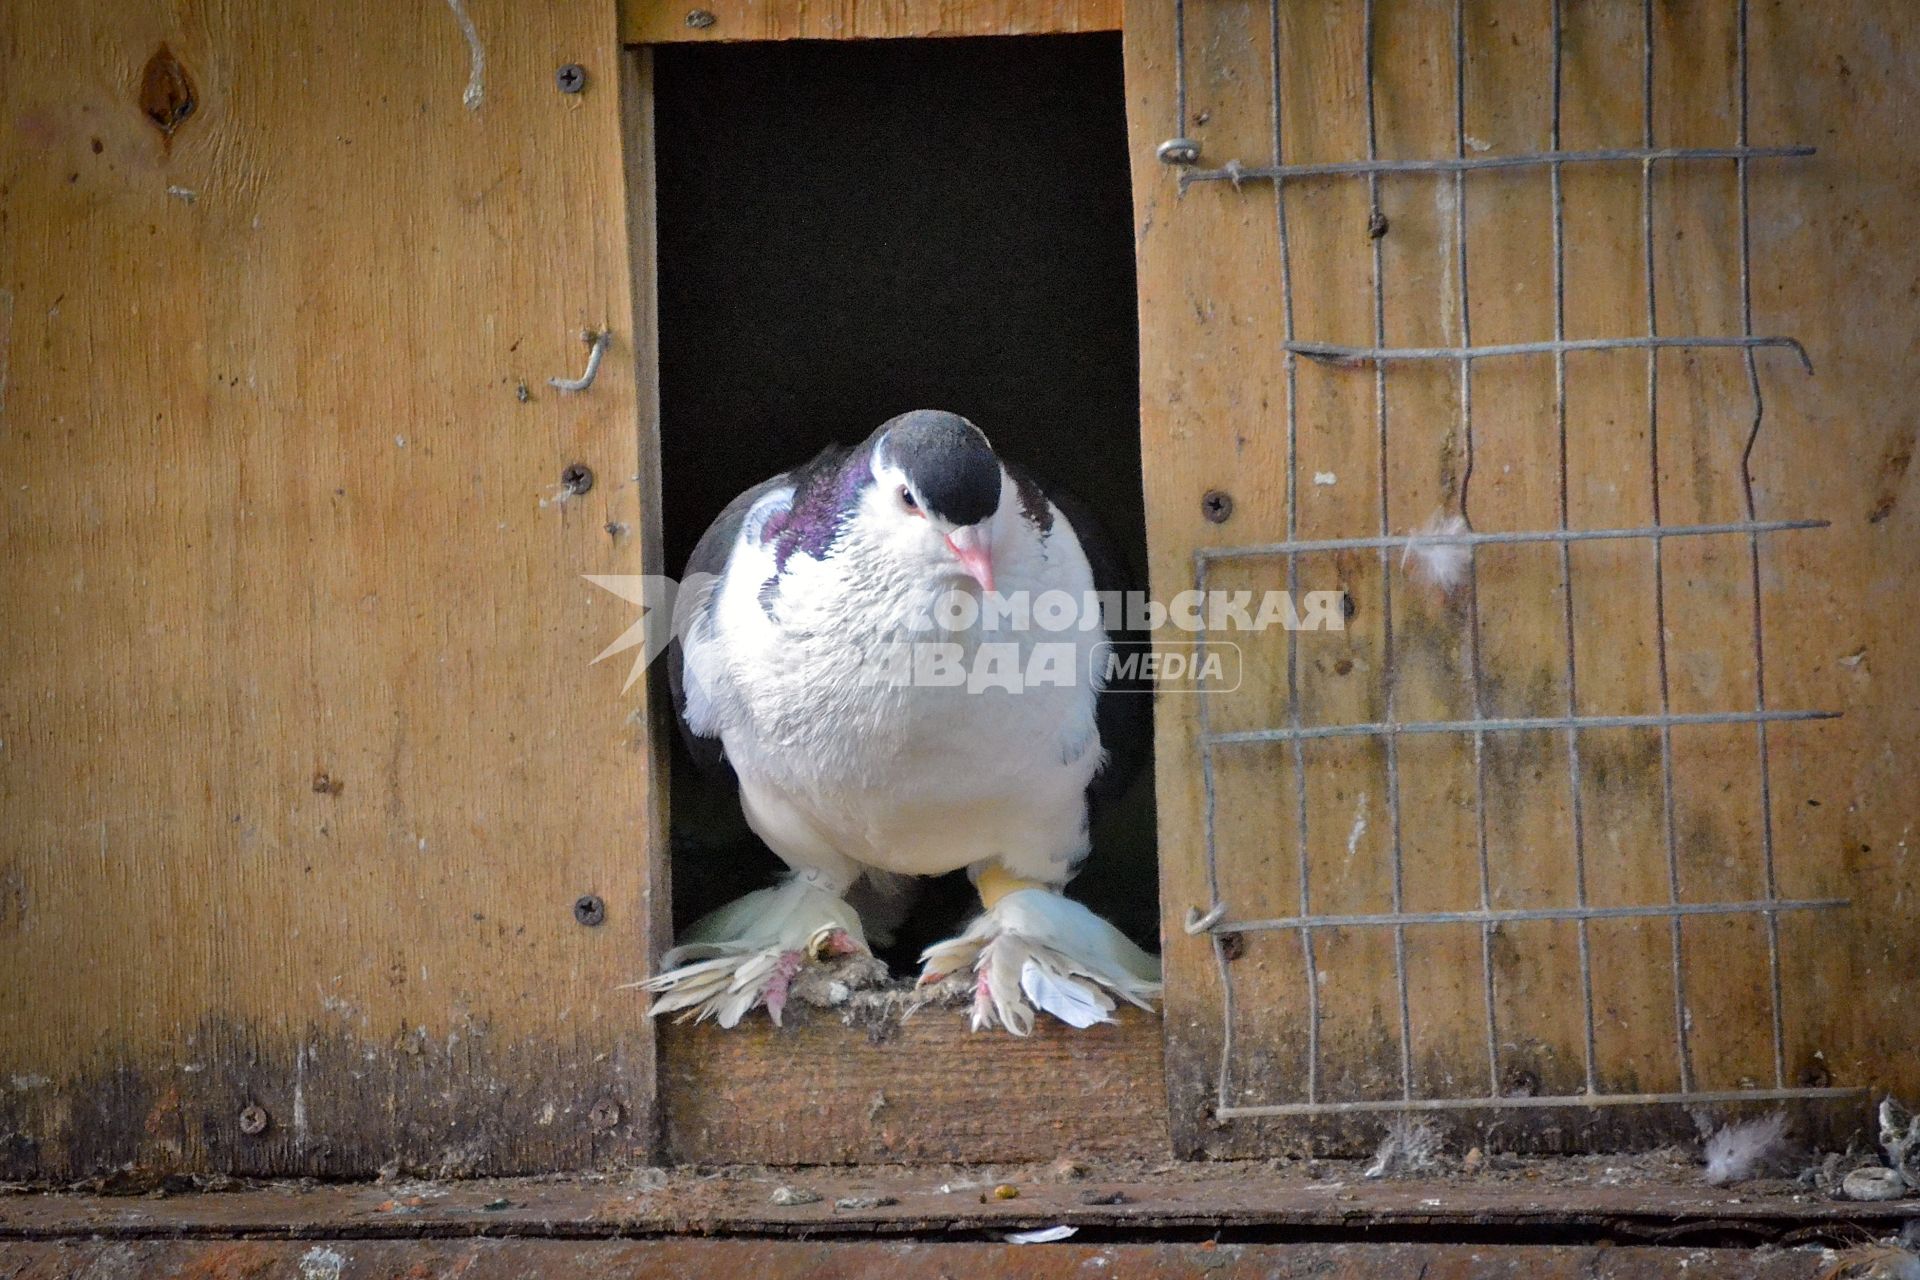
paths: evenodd
<path fill-rule="evenodd" d="M 628 986 L 653 996 L 653 1017 L 735 1027 L 764 1004 L 778 1027 L 803 965 L 866 952 L 860 915 L 843 898 L 791 879 L 703 915 L 666 952 L 664 973 Z"/>

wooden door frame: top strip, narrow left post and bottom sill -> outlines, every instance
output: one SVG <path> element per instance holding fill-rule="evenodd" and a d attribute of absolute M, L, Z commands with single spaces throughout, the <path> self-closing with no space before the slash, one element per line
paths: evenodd
<path fill-rule="evenodd" d="M 628 4 L 620 15 L 622 113 L 634 265 L 634 332 L 641 395 L 645 537 L 660 545 L 660 438 L 651 44 L 783 38 L 925 38 L 1116 31 L 1117 0 L 927 0 L 810 8 L 732 0 L 699 10 Z M 647 572 L 662 572 L 649 557 Z M 655 754 L 672 733 L 655 699 Z M 666 777 L 664 764 L 657 775 Z M 664 793 L 664 787 L 660 789 Z M 649 960 L 668 946 L 668 816 L 653 819 L 647 854 Z M 1020 1161 L 1060 1151 L 1112 1157 L 1167 1153 L 1162 1019 L 1125 1009 L 1116 1025 L 1073 1031 L 1041 1019 L 1035 1034 L 973 1034 L 966 1017 L 929 1009 L 885 1027 L 843 1025 L 789 1006 L 787 1027 L 659 1027 L 659 1138 L 668 1161 L 772 1165 L 887 1161 Z M 797 1069 L 804 1063 L 804 1069 Z"/>

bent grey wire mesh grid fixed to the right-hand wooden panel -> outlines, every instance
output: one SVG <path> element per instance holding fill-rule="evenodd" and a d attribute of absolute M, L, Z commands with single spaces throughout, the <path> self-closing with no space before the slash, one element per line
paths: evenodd
<path fill-rule="evenodd" d="M 1492 1109 L 1492 1107 L 1597 1107 L 1597 1105 L 1653 1105 L 1653 1103 L 1716 1103 L 1716 1102 L 1753 1102 L 1753 1100 L 1811 1100 L 1811 1098 L 1834 1098 L 1834 1096 L 1857 1096 L 1859 1090 L 1851 1088 L 1812 1088 L 1812 1086 L 1791 1086 L 1788 1082 L 1788 1063 L 1786 1063 L 1786 996 L 1780 975 L 1780 915 L 1786 912 L 1818 912 L 1845 908 L 1843 898 L 1784 898 L 1780 894 L 1778 879 L 1774 873 L 1774 827 L 1772 827 L 1772 783 L 1770 783 L 1770 758 L 1768 758 L 1768 725 L 1780 722 L 1799 722 L 1799 720 L 1826 720 L 1836 712 L 1822 710 L 1784 710 L 1768 706 L 1766 691 L 1766 651 L 1763 641 L 1763 604 L 1761 604 L 1761 537 L 1766 533 L 1780 533 L 1791 530 L 1811 530 L 1822 528 L 1826 520 L 1761 520 L 1757 516 L 1753 499 L 1753 476 L 1751 459 L 1753 447 L 1759 439 L 1761 426 L 1766 413 L 1766 403 L 1761 388 L 1759 374 L 1759 353 L 1763 349 L 1786 349 L 1793 353 L 1799 365 L 1812 372 L 1812 365 L 1807 351 L 1799 342 L 1788 336 L 1768 336 L 1753 332 L 1753 282 L 1751 282 L 1751 219 L 1749 219 L 1749 180 L 1747 169 L 1755 159 L 1774 159 L 1774 157 L 1799 157 L 1811 155 L 1811 146 L 1751 146 L 1749 142 L 1749 92 L 1747 92 L 1747 4 L 1740 0 L 1738 4 L 1738 44 L 1736 44 L 1736 77 L 1738 77 L 1738 138 L 1734 146 L 1718 148 L 1672 148 L 1659 146 L 1655 138 L 1655 21 L 1653 4 L 1644 0 L 1642 6 L 1642 144 L 1638 148 L 1609 148 L 1609 150 L 1563 150 L 1561 148 L 1561 117 L 1563 117 L 1563 0 L 1549 0 L 1551 4 L 1551 142 L 1549 150 L 1534 154 L 1513 154 L 1513 155 L 1469 155 L 1469 136 L 1467 136 L 1467 33 L 1463 19 L 1463 4 L 1455 0 L 1453 4 L 1453 155 L 1434 157 L 1434 159 L 1382 159 L 1379 154 L 1379 129 L 1377 129 L 1377 109 L 1375 109 L 1375 6 L 1367 0 L 1363 6 L 1365 21 L 1365 40 L 1363 40 L 1363 86 L 1365 86 L 1365 113 L 1367 113 L 1367 155 L 1365 159 L 1338 161 L 1338 163 L 1286 163 L 1283 152 L 1283 77 L 1281 77 L 1281 2 L 1271 2 L 1271 63 L 1273 63 L 1273 163 L 1261 167 L 1242 165 L 1238 161 L 1229 161 L 1221 167 L 1198 167 L 1198 146 L 1185 138 L 1175 136 L 1165 146 L 1162 146 L 1162 157 L 1169 163 L 1185 165 L 1181 171 L 1181 192 L 1198 182 L 1231 182 L 1236 190 L 1250 182 L 1271 182 L 1275 196 L 1275 219 L 1279 234 L 1279 274 L 1281 274 L 1281 301 L 1283 301 L 1283 322 L 1284 322 L 1284 384 L 1286 384 L 1286 539 L 1279 543 L 1261 545 L 1242 545 L 1242 547 L 1204 547 L 1194 557 L 1194 585 L 1198 591 L 1208 591 L 1210 570 L 1221 560 L 1244 560 L 1244 558 L 1284 558 L 1286 562 L 1286 591 L 1294 599 L 1300 597 L 1300 557 L 1308 553 L 1327 553 L 1327 551 L 1377 551 L 1380 558 L 1380 593 L 1382 593 L 1382 637 L 1380 643 L 1388 660 L 1384 662 L 1384 720 L 1371 723 L 1302 723 L 1302 697 L 1300 697 L 1300 656 L 1294 637 L 1288 635 L 1286 649 L 1286 723 L 1260 729 L 1240 729 L 1240 731 L 1213 731 L 1212 714 L 1206 699 L 1206 691 L 1198 691 L 1198 722 L 1200 722 L 1200 768 L 1202 768 L 1202 789 L 1204 789 L 1204 850 L 1206 850 L 1206 883 L 1212 894 L 1212 904 L 1206 912 L 1194 910 L 1188 915 L 1190 933 L 1208 933 L 1213 942 L 1213 958 L 1219 971 L 1219 983 L 1223 992 L 1223 1036 L 1221 1036 L 1221 1059 L 1217 1077 L 1217 1100 L 1215 1115 L 1223 1121 L 1235 1117 L 1311 1117 L 1311 1115 L 1338 1115 L 1356 1111 L 1469 1111 L 1469 1109 Z M 1187 15 L 1185 0 L 1175 0 L 1175 104 L 1179 113 L 1179 125 L 1185 127 L 1188 119 L 1187 107 Z M 1179 130 L 1177 130 L 1179 132 Z M 1657 294 L 1655 294 L 1655 238 L 1653 238 L 1653 192 L 1655 192 L 1655 167 L 1657 165 L 1678 165 L 1678 163 L 1732 163 L 1738 182 L 1738 225 L 1740 225 L 1740 315 L 1741 332 L 1738 334 L 1661 334 L 1657 324 Z M 1638 165 L 1640 169 L 1640 234 L 1644 244 L 1644 261 L 1638 265 L 1644 274 L 1645 286 L 1645 334 L 1628 334 L 1617 338 L 1567 338 L 1567 226 L 1565 226 L 1565 203 L 1561 194 L 1561 171 L 1567 165 Z M 1553 257 L 1553 336 L 1540 342 L 1521 342 L 1521 344 L 1473 344 L 1471 328 L 1471 271 L 1467 257 L 1467 201 L 1465 201 L 1465 178 L 1473 173 L 1484 171 L 1509 171 L 1509 169 L 1546 169 L 1549 175 L 1549 198 L 1551 198 L 1551 257 Z M 1448 175 L 1453 184 L 1453 263 L 1452 274 L 1457 294 L 1457 328 L 1459 345 L 1448 347 L 1394 347 L 1386 344 L 1386 290 L 1384 290 L 1384 271 L 1382 271 L 1382 249 L 1380 238 L 1373 236 L 1373 261 L 1371 261 L 1371 288 L 1373 288 L 1373 344 L 1371 345 L 1338 345 L 1325 342 L 1304 340 L 1294 324 L 1294 278 L 1292 278 L 1292 246 L 1288 236 L 1288 213 L 1286 200 L 1283 198 L 1283 188 L 1290 180 L 1298 178 L 1361 178 L 1367 184 L 1369 207 L 1379 219 L 1380 209 L 1380 182 L 1392 175 Z M 1659 461 L 1659 351 L 1663 349 L 1703 349 L 1703 347 L 1734 347 L 1741 353 L 1745 365 L 1745 382 L 1751 403 L 1751 424 L 1747 430 L 1745 447 L 1741 451 L 1741 497 L 1743 497 L 1743 518 L 1720 524 L 1663 524 L 1661 520 L 1661 461 Z M 1651 524 L 1636 528 L 1607 528 L 1607 530 L 1574 530 L 1571 528 L 1571 509 L 1569 509 L 1569 449 L 1567 449 L 1567 355 L 1572 351 L 1609 351 L 1609 349 L 1640 349 L 1645 353 L 1645 407 L 1649 422 L 1649 451 L 1651 451 Z M 1530 532 L 1475 532 L 1471 526 L 1469 510 L 1469 491 L 1473 484 L 1473 365 L 1486 359 L 1517 357 L 1517 355 L 1551 355 L 1553 357 L 1553 418 L 1557 428 L 1557 449 L 1559 449 L 1559 528 L 1551 530 L 1530 530 Z M 1302 539 L 1298 528 L 1298 361 L 1340 361 L 1344 365 L 1371 365 L 1373 368 L 1373 397 L 1375 397 L 1375 432 L 1379 438 L 1379 474 L 1377 474 L 1377 501 L 1379 501 L 1379 533 L 1361 537 L 1323 537 L 1323 539 Z M 1394 576 L 1390 572 L 1390 555 L 1404 551 L 1409 545 L 1409 535 L 1394 535 L 1388 526 L 1388 466 L 1386 466 L 1386 443 L 1388 443 L 1388 416 L 1386 416 L 1386 376 L 1388 368 L 1402 361 L 1452 361 L 1459 370 L 1459 428 L 1465 445 L 1465 474 L 1459 484 L 1459 514 L 1465 520 L 1465 532 L 1459 533 L 1440 533 L 1440 535 L 1421 535 L 1423 545 L 1434 543 L 1453 543 L 1467 549 L 1467 654 L 1471 664 L 1471 693 L 1473 693 L 1473 716 L 1467 720 L 1400 720 L 1394 706 L 1394 635 L 1392 635 L 1392 589 Z M 1747 549 L 1747 578 L 1753 601 L 1751 612 L 1751 645 L 1753 645 L 1753 664 L 1755 664 L 1755 697 L 1751 708 L 1718 710 L 1718 712 L 1676 712 L 1672 708 L 1670 681 L 1668 681 L 1668 641 L 1667 641 L 1667 581 L 1665 581 L 1665 543 L 1676 537 L 1743 537 Z M 1651 549 L 1651 578 L 1653 578 L 1653 631 L 1655 631 L 1655 660 L 1659 668 L 1659 712 L 1640 714 L 1640 716 L 1603 716 L 1603 714 L 1582 714 L 1578 702 L 1578 683 L 1576 683 L 1576 647 L 1574 647 L 1574 576 L 1571 549 L 1574 543 L 1582 541 L 1634 541 L 1644 543 Z M 1563 645 L 1565 660 L 1565 706 L 1563 716 L 1534 716 L 1534 718 L 1494 718 L 1486 714 L 1484 691 L 1486 681 L 1480 668 L 1482 639 L 1480 639 L 1480 581 L 1478 581 L 1478 555 L 1476 551 L 1486 545 L 1513 545 L 1513 543 L 1534 543 L 1557 547 L 1559 553 L 1559 587 L 1561 587 L 1561 618 L 1559 635 Z M 1204 647 L 1206 637 L 1202 633 L 1200 645 Z M 1757 743 L 1757 770 L 1759 770 L 1759 833 L 1761 833 L 1761 860 L 1763 860 L 1763 885 L 1764 894 L 1757 900 L 1730 900 L 1730 902 L 1682 902 L 1680 898 L 1680 858 L 1676 841 L 1676 816 L 1674 816 L 1674 747 L 1672 731 L 1678 725 L 1753 725 Z M 1661 829 L 1665 837 L 1665 879 L 1667 879 L 1667 902 L 1645 904 L 1645 906 L 1596 906 L 1588 902 L 1588 867 L 1586 867 L 1586 839 L 1582 827 L 1580 812 L 1580 779 L 1582 779 L 1582 760 L 1580 760 L 1580 735 L 1592 729 L 1620 729 L 1638 727 L 1651 729 L 1659 733 L 1659 762 L 1661 762 L 1661 794 L 1663 794 L 1663 814 Z M 1523 908 L 1523 910 L 1496 910 L 1492 898 L 1492 875 L 1488 865 L 1488 825 L 1486 825 L 1486 739 L 1496 733 L 1517 733 L 1517 731 L 1555 731 L 1565 735 L 1567 762 L 1569 762 L 1569 785 L 1571 785 L 1571 833 L 1572 833 L 1572 881 L 1574 881 L 1574 900 L 1565 906 L 1551 908 Z M 1475 773 L 1475 816 L 1476 816 L 1476 856 L 1478 856 L 1478 908 L 1465 912 L 1409 912 L 1404 900 L 1404 858 L 1402 858 L 1402 806 L 1400 806 L 1400 741 L 1409 735 L 1467 735 L 1473 743 L 1473 773 Z M 1361 737 L 1375 739 L 1380 743 L 1384 754 L 1384 773 L 1386 773 L 1386 806 L 1388 806 L 1388 848 L 1392 858 L 1392 889 L 1390 889 L 1390 910 L 1379 913 L 1315 913 L 1311 902 L 1311 867 L 1309 867 L 1309 812 L 1308 812 L 1308 787 L 1306 787 L 1306 754 L 1304 745 L 1313 739 L 1331 737 Z M 1298 877 L 1300 877 L 1300 908 L 1298 913 L 1275 919 L 1235 919 L 1231 915 L 1231 904 L 1221 900 L 1221 875 L 1217 860 L 1217 796 L 1215 796 L 1215 752 L 1233 750 L 1246 743 L 1284 743 L 1290 747 L 1292 754 L 1292 775 L 1294 775 L 1294 823 L 1298 837 Z M 1692 1054 L 1688 1048 L 1690 1017 L 1688 1017 L 1688 973 L 1686 973 L 1686 946 L 1682 938 L 1682 921 L 1690 917 L 1718 915 L 1718 917 L 1753 917 L 1764 923 L 1766 938 L 1766 971 L 1770 981 L 1770 1011 L 1772 1011 L 1772 1086 L 1759 1088 L 1740 1088 L 1740 1090 L 1707 1090 L 1699 1088 L 1693 1075 Z M 1674 1054 L 1678 1057 L 1678 1090 L 1670 1092 L 1611 1092 L 1601 1088 L 1597 1077 L 1597 1032 L 1596 1032 L 1596 1002 L 1594 1002 L 1594 958 L 1590 946 L 1590 923 L 1597 919 L 1667 919 L 1670 931 L 1670 965 L 1672 965 L 1672 990 L 1674 990 Z M 1580 1092 L 1561 1092 L 1561 1094 L 1532 1094 L 1515 1096 L 1503 1094 L 1500 1082 L 1500 1025 L 1498 1025 L 1498 1004 L 1494 990 L 1494 931 L 1503 923 L 1515 921 L 1569 921 L 1576 929 L 1578 936 L 1578 971 L 1580 971 L 1580 1000 L 1582 1000 L 1582 1019 L 1584 1019 L 1584 1088 Z M 1459 925 L 1476 927 L 1480 933 L 1480 973 L 1482 990 L 1480 1002 L 1484 1004 L 1484 1031 L 1486 1031 L 1486 1057 L 1488 1057 L 1488 1080 L 1484 1092 L 1461 1094 L 1461 1096 L 1415 1096 L 1415 1075 L 1413 1075 L 1413 1017 L 1411 1017 L 1411 998 L 1407 983 L 1407 927 L 1409 925 Z M 1321 981 L 1327 977 L 1319 967 L 1315 958 L 1315 933 L 1327 929 L 1390 929 L 1394 942 L 1394 973 L 1396 973 L 1396 994 L 1398 994 L 1398 1040 L 1400 1040 L 1400 1096 L 1398 1098 L 1327 1098 L 1327 1088 L 1321 1079 Z M 1235 1063 L 1235 981 L 1233 967 L 1229 963 L 1229 938 L 1244 933 L 1258 931 L 1286 931 L 1300 936 L 1302 958 L 1304 958 L 1304 977 L 1306 977 L 1306 1007 L 1308 1007 L 1308 1027 L 1306 1027 L 1306 1100 L 1304 1102 L 1267 1102 L 1267 1103 L 1246 1103 L 1235 1100 L 1233 1082 L 1233 1063 Z"/>

